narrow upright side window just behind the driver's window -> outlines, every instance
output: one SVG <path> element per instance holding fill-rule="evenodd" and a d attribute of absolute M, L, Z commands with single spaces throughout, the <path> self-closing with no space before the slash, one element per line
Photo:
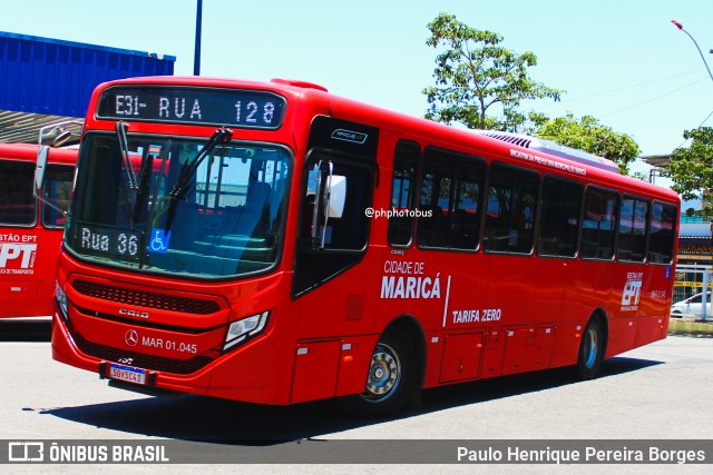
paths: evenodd
<path fill-rule="evenodd" d="M 416 166 L 420 149 L 417 144 L 400 141 L 393 157 L 391 209 L 413 211 L 416 207 Z M 389 219 L 389 244 L 409 246 L 413 237 L 413 216 L 393 216 Z"/>

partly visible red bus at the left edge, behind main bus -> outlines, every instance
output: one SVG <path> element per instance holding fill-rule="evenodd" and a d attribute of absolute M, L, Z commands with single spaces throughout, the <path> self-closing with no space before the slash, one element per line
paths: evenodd
<path fill-rule="evenodd" d="M 52 315 L 65 215 L 33 195 L 39 146 L 0 144 L 0 318 Z M 77 149 L 51 149 L 45 191 L 69 204 Z"/>

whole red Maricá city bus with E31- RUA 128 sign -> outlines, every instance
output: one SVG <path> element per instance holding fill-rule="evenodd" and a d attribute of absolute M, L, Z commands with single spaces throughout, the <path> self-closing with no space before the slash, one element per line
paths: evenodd
<path fill-rule="evenodd" d="M 104 83 L 53 357 L 141 390 L 371 415 L 459 382 L 592 378 L 666 337 L 677 244 L 677 195 L 613 168 L 307 82 Z"/>

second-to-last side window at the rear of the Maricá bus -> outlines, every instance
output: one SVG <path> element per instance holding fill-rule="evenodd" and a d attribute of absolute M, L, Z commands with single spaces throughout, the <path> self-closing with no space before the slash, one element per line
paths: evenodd
<path fill-rule="evenodd" d="M 643 263 L 646 258 L 646 219 L 648 201 L 625 196 L 622 199 L 619 217 L 619 237 L 616 255 L 619 260 Z"/>

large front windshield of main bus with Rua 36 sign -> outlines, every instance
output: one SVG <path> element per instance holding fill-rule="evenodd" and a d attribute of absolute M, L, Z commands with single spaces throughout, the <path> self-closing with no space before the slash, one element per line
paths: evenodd
<path fill-rule="evenodd" d="M 279 258 L 286 149 L 88 133 L 65 235 L 75 254 L 145 271 L 228 277 Z"/>

